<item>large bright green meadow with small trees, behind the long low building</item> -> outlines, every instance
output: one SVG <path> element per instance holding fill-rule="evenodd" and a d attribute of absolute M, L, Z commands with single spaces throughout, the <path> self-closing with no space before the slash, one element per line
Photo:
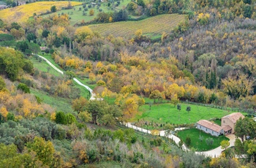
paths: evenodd
<path fill-rule="evenodd" d="M 187 106 L 191 107 L 191 111 L 187 112 Z M 157 123 L 196 123 L 201 119 L 211 119 L 211 118 L 222 118 L 225 115 L 230 114 L 226 110 L 219 110 L 211 107 L 203 107 L 195 104 L 181 104 L 181 112 L 178 112 L 177 107 L 173 104 L 153 104 L 151 110 L 149 110 L 149 105 L 144 104 L 140 107 L 140 112 L 132 121 L 138 121 L 138 119 L 143 119 L 144 121 L 154 121 Z M 180 117 L 179 117 L 180 116 Z"/>

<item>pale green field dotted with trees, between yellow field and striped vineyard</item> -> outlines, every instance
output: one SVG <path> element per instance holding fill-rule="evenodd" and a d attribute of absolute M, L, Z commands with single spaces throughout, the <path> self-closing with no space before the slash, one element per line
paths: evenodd
<path fill-rule="evenodd" d="M 129 2 L 130 2 L 130 0 L 120 1 L 119 6 L 115 7 L 115 9 L 117 9 L 117 10 L 122 9 L 122 7 L 126 7 Z M 107 4 L 108 4 L 108 2 L 102 2 L 99 9 L 102 9 L 102 12 L 114 12 L 113 10 L 111 10 L 111 8 L 108 8 Z M 86 4 L 86 5 L 88 6 L 89 4 Z M 79 8 L 81 8 L 81 10 L 79 10 Z M 90 8 L 88 9 L 88 11 L 85 11 L 86 15 L 83 15 L 83 5 L 79 5 L 79 6 L 73 7 L 73 9 L 58 10 L 54 14 L 51 13 L 48 15 L 42 15 L 42 17 L 47 18 L 50 15 L 61 15 L 61 13 L 64 13 L 64 14 L 69 15 L 69 17 L 71 18 L 70 24 L 75 25 L 75 23 L 80 23 L 82 20 L 84 20 L 85 22 L 94 20 L 94 18 L 96 18 L 99 13 L 99 9 L 97 9 L 97 7 L 91 7 L 91 9 L 94 9 L 94 15 L 92 15 L 92 16 L 89 15 Z"/>

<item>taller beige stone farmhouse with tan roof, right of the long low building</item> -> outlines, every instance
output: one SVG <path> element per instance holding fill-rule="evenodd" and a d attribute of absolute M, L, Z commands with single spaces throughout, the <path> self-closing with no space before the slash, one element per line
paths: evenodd
<path fill-rule="evenodd" d="M 244 118 L 244 115 L 242 115 L 240 112 L 234 112 L 230 115 L 222 117 L 222 128 L 224 129 L 225 134 L 234 133 L 236 121 L 238 121 L 239 118 Z"/>

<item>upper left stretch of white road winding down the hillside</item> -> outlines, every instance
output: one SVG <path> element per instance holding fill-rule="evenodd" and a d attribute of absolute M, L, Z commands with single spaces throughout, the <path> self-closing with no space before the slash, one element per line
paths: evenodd
<path fill-rule="evenodd" d="M 43 56 L 39 56 L 37 54 L 33 54 L 34 56 L 38 56 L 39 58 L 42 58 L 44 61 L 46 61 L 50 66 L 53 67 L 53 69 L 55 69 L 57 72 L 61 73 L 61 75 L 64 75 L 64 72 L 61 71 L 60 69 L 58 69 L 56 66 L 54 66 L 47 58 L 43 57 Z M 83 83 L 80 83 L 80 81 L 77 78 L 73 78 L 73 80 L 78 83 L 78 85 L 83 86 L 84 88 L 86 88 L 90 93 L 91 93 L 91 98 L 89 100 L 102 100 L 102 98 L 97 98 L 96 94 L 94 93 L 94 91 L 92 91 L 91 88 L 89 88 L 88 85 L 84 85 Z"/>

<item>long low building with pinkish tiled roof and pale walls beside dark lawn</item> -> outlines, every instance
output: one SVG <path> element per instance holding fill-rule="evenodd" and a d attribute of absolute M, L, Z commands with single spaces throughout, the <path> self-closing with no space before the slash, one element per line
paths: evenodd
<path fill-rule="evenodd" d="M 211 123 L 211 121 L 200 120 L 197 122 L 197 129 L 205 131 L 208 134 L 218 137 L 223 134 L 223 129 L 216 123 Z"/>

